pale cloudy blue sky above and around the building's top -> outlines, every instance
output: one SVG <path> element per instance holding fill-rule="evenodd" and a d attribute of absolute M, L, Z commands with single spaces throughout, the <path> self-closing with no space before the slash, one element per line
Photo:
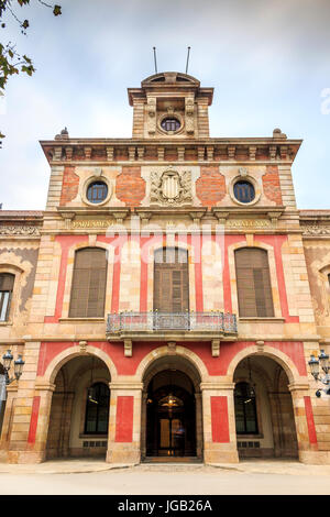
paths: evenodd
<path fill-rule="evenodd" d="M 293 165 L 300 209 L 330 209 L 329 0 L 37 0 L 6 14 L 0 41 L 33 59 L 0 97 L 0 204 L 43 210 L 50 166 L 40 140 L 131 138 L 127 88 L 158 72 L 185 72 L 213 87 L 210 136 L 304 142 Z"/>

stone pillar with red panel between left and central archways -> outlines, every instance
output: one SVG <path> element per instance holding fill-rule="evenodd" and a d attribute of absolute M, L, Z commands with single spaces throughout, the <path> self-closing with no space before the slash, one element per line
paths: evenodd
<path fill-rule="evenodd" d="M 141 460 L 142 383 L 110 383 L 107 462 L 136 464 Z"/>

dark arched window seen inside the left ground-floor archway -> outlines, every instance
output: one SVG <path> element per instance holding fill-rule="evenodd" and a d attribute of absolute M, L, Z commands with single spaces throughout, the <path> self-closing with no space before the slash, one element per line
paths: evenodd
<path fill-rule="evenodd" d="M 92 384 L 92 399 L 87 398 L 85 435 L 107 435 L 109 422 L 110 389 L 105 383 Z"/>

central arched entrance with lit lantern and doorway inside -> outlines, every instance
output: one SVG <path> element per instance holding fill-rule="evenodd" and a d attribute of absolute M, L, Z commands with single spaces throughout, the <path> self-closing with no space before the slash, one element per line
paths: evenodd
<path fill-rule="evenodd" d="M 142 459 L 201 459 L 200 378 L 186 359 L 156 360 L 144 375 Z"/>

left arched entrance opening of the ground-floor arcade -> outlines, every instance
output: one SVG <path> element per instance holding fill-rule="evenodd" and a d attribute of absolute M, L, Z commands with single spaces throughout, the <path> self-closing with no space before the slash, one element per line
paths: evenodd
<path fill-rule="evenodd" d="M 46 459 L 105 457 L 108 447 L 110 374 L 86 354 L 65 363 L 55 377 Z"/>

